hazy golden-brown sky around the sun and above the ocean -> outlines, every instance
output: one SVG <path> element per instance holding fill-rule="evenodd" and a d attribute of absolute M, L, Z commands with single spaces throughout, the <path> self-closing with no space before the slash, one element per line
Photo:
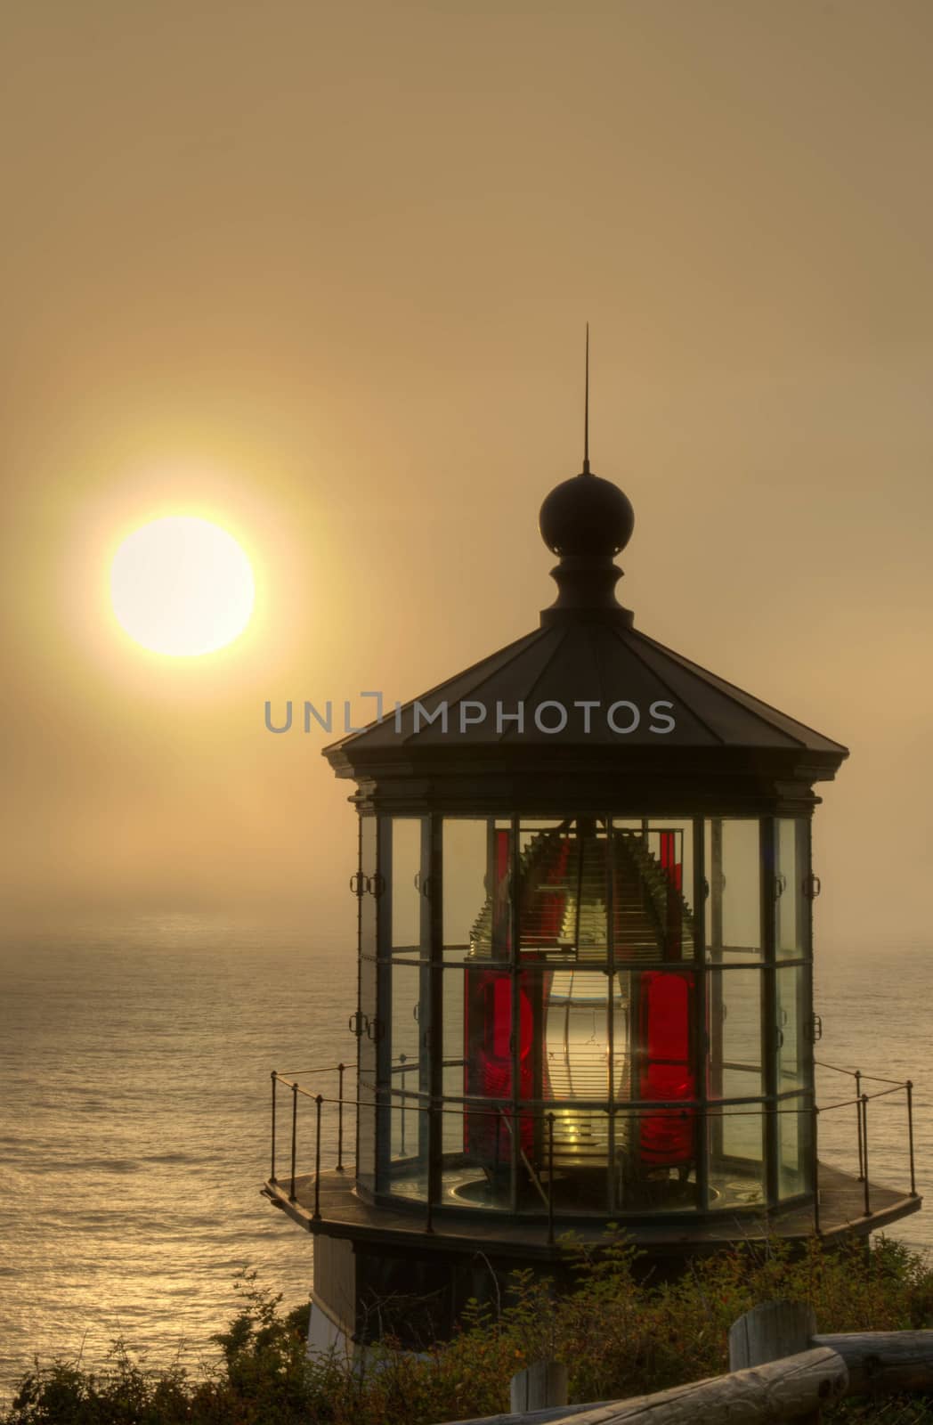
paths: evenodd
<path fill-rule="evenodd" d="M 933 7 L 43 0 L 0 16 L 7 916 L 352 923 L 352 789 L 264 701 L 536 627 L 543 496 L 635 507 L 637 624 L 852 748 L 828 939 L 927 932 Z M 259 611 L 171 661 L 115 544 L 195 512 Z"/>

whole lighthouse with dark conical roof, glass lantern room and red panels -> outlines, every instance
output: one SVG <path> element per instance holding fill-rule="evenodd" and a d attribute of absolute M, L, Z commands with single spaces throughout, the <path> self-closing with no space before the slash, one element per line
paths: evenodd
<path fill-rule="evenodd" d="M 588 452 L 538 527 L 537 626 L 325 750 L 359 824 L 358 1062 L 273 1074 L 265 1187 L 313 1234 L 322 1349 L 560 1281 L 567 1230 L 674 1270 L 920 1206 L 869 1181 L 858 1094 L 852 1171 L 818 1159 L 812 822 L 846 748 L 642 631 L 632 506 Z"/>

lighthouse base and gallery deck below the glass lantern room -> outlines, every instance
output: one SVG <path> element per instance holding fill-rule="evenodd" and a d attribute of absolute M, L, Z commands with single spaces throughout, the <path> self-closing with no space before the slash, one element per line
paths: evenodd
<path fill-rule="evenodd" d="M 867 1238 L 890 1223 L 919 1211 L 922 1198 L 877 1183 L 869 1186 L 853 1174 L 820 1163 L 819 1223 L 828 1245 Z M 571 1230 L 575 1243 L 598 1251 L 607 1241 L 603 1221 L 561 1223 L 557 1241 L 548 1243 L 544 1223 L 493 1223 L 479 1214 L 434 1217 L 426 1230 L 423 1217 L 365 1203 L 353 1180 L 343 1173 L 323 1173 L 319 1187 L 320 1216 L 313 1216 L 313 1177 L 296 1180 L 295 1201 L 283 1184 L 268 1183 L 266 1196 L 315 1237 L 315 1264 L 308 1348 L 312 1354 L 339 1355 L 359 1362 L 366 1347 L 392 1338 L 405 1349 L 423 1351 L 450 1338 L 469 1301 L 499 1310 L 509 1300 L 510 1277 L 531 1268 L 548 1277 L 557 1291 L 573 1287 L 578 1273 L 574 1254 L 560 1241 Z M 652 1281 L 679 1275 L 691 1258 L 769 1238 L 803 1245 L 813 1235 L 812 1204 L 783 1213 L 722 1214 L 718 1220 L 679 1223 L 621 1223 L 638 1251 L 635 1275 Z"/>

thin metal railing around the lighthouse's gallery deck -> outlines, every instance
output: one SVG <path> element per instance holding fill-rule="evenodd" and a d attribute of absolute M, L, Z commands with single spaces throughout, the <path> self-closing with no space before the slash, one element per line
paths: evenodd
<path fill-rule="evenodd" d="M 916 1197 L 917 1196 L 917 1188 L 916 1188 L 916 1161 L 914 1161 L 914 1134 L 913 1134 L 913 1083 L 912 1083 L 912 1080 L 910 1079 L 907 1079 L 907 1080 L 885 1079 L 885 1077 L 882 1077 L 879 1074 L 866 1074 L 866 1073 L 862 1073 L 858 1069 L 840 1069 L 838 1064 L 828 1064 L 828 1063 L 822 1063 L 819 1060 L 816 1062 L 816 1064 L 820 1069 L 826 1069 L 826 1070 L 830 1070 L 833 1073 L 842 1073 L 842 1074 L 849 1076 L 855 1082 L 855 1090 L 856 1090 L 855 1096 L 850 1097 L 850 1099 L 840 1099 L 838 1102 L 822 1104 L 822 1106 L 813 1103 L 813 1104 L 810 1104 L 809 1110 L 808 1109 L 801 1109 L 799 1104 L 796 1104 L 796 1103 L 793 1106 L 789 1106 L 789 1107 L 781 1107 L 779 1103 L 761 1103 L 761 1102 L 756 1102 L 754 1107 L 741 1107 L 739 1106 L 741 1103 L 749 1103 L 751 1100 L 735 1100 L 732 1103 L 724 1102 L 724 1103 L 721 1103 L 718 1106 L 718 1109 L 711 1107 L 709 1103 L 707 1103 L 702 1109 L 698 1109 L 694 1104 L 685 1106 L 682 1102 L 678 1102 L 678 1100 L 669 1100 L 669 1102 L 667 1102 L 667 1100 L 665 1102 L 658 1100 L 658 1102 L 651 1102 L 651 1103 L 641 1103 L 638 1106 L 632 1106 L 632 1107 L 628 1107 L 628 1109 L 622 1107 L 622 1106 L 614 1106 L 614 1109 L 611 1110 L 611 1116 L 613 1116 L 613 1120 L 615 1120 L 617 1117 L 622 1117 L 622 1119 L 635 1119 L 638 1121 L 638 1120 L 641 1120 L 644 1117 L 650 1117 L 650 1116 L 657 1116 L 657 1114 L 672 1116 L 675 1113 L 679 1114 L 682 1119 L 688 1119 L 691 1116 L 695 1119 L 695 1117 L 698 1117 L 702 1113 L 705 1121 L 709 1123 L 709 1121 L 715 1121 L 715 1120 L 722 1120 L 722 1121 L 728 1120 L 728 1121 L 732 1121 L 732 1120 L 735 1120 L 738 1117 L 761 1117 L 762 1114 L 779 1114 L 779 1113 L 801 1114 L 801 1113 L 809 1113 L 810 1129 L 812 1129 L 812 1146 L 813 1146 L 813 1178 L 812 1178 L 812 1184 L 810 1184 L 812 1197 L 813 1197 L 813 1231 L 819 1235 L 822 1228 L 820 1228 L 818 1134 L 819 1134 L 819 1119 L 820 1119 L 822 1114 L 826 1114 L 826 1113 L 835 1112 L 835 1110 L 843 1110 L 843 1109 L 852 1109 L 852 1107 L 856 1109 L 856 1144 L 858 1144 L 858 1166 L 859 1166 L 858 1180 L 863 1184 L 865 1217 L 870 1217 L 872 1216 L 872 1206 L 870 1206 L 870 1181 L 869 1181 L 869 1114 L 867 1114 L 867 1106 L 869 1106 L 869 1103 L 872 1103 L 876 1099 L 886 1099 L 886 1097 L 890 1097 L 892 1094 L 903 1093 L 905 1094 L 905 1102 L 906 1102 L 906 1113 L 907 1113 L 907 1156 L 909 1156 L 909 1164 L 910 1164 L 910 1197 Z M 554 1126 L 556 1126 L 556 1120 L 557 1120 L 557 1114 L 553 1110 L 541 1113 L 540 1107 L 536 1109 L 531 1104 L 527 1104 L 527 1106 L 526 1104 L 520 1104 L 516 1109 L 516 1106 L 511 1104 L 511 1103 L 509 1106 L 500 1106 L 500 1104 L 490 1106 L 487 1100 L 463 1100 L 462 1103 L 457 1104 L 457 1107 L 444 1107 L 443 1104 L 440 1104 L 437 1102 L 432 1102 L 432 1103 L 413 1102 L 415 1096 L 410 1094 L 410 1093 L 406 1093 L 405 1090 L 403 1092 L 397 1092 L 397 1090 L 392 1092 L 389 1099 L 385 1097 L 385 1090 L 380 1094 L 376 1094 L 376 1092 L 373 1092 L 373 1097 L 370 1100 L 360 1100 L 358 1097 L 352 1097 L 350 1099 L 346 1094 L 345 1079 L 346 1079 L 348 1070 L 355 1069 L 355 1067 L 356 1067 L 356 1063 L 339 1063 L 339 1064 L 330 1064 L 330 1066 L 326 1066 L 326 1067 L 325 1066 L 318 1066 L 318 1067 L 311 1069 L 311 1070 L 303 1070 L 303 1073 L 326 1073 L 326 1074 L 335 1073 L 338 1076 L 336 1097 L 330 1097 L 330 1096 L 326 1096 L 326 1094 L 322 1094 L 322 1093 L 313 1093 L 312 1090 L 303 1087 L 299 1083 L 299 1080 L 298 1080 L 298 1074 L 283 1074 L 283 1073 L 278 1073 L 276 1070 L 272 1070 L 272 1074 L 271 1074 L 271 1079 L 272 1079 L 272 1141 L 271 1141 L 269 1183 L 273 1184 L 273 1186 L 282 1186 L 282 1184 L 279 1184 L 279 1180 L 276 1177 L 276 1106 L 278 1106 L 278 1094 L 279 1094 L 279 1092 L 285 1090 L 286 1093 L 291 1094 L 291 1176 L 289 1176 L 289 1194 L 288 1194 L 288 1200 L 291 1203 L 296 1203 L 298 1201 L 298 1193 L 296 1193 L 298 1173 L 296 1173 L 296 1167 L 298 1167 L 298 1103 L 299 1103 L 299 1099 L 309 1099 L 315 1104 L 315 1130 L 313 1130 L 313 1133 L 315 1133 L 315 1147 L 313 1147 L 315 1170 L 313 1170 L 313 1213 L 312 1213 L 312 1220 L 320 1220 L 320 1173 L 322 1173 L 322 1170 L 320 1170 L 320 1157 L 322 1157 L 322 1119 L 323 1119 L 323 1107 L 325 1107 L 325 1104 L 328 1107 L 332 1107 L 332 1109 L 336 1110 L 336 1163 L 333 1164 L 333 1170 L 338 1171 L 338 1173 L 346 1171 L 346 1164 L 343 1163 L 343 1150 L 345 1150 L 345 1141 L 346 1141 L 346 1131 L 345 1130 L 346 1130 L 346 1113 L 348 1113 L 348 1110 L 356 1110 L 356 1113 L 359 1113 L 359 1110 L 363 1109 L 363 1110 L 366 1110 L 369 1113 L 373 1113 L 373 1114 L 385 1112 L 385 1110 L 392 1110 L 392 1109 L 399 1110 L 400 1114 L 402 1114 L 402 1139 L 403 1139 L 403 1141 L 405 1141 L 405 1114 L 410 1113 L 410 1112 L 417 1113 L 417 1114 L 430 1114 L 430 1116 L 434 1117 L 434 1120 L 443 1120 L 444 1114 L 454 1114 L 456 1117 L 462 1119 L 464 1123 L 466 1123 L 467 1116 L 469 1116 L 471 1124 L 476 1124 L 477 1119 L 480 1119 L 480 1120 L 481 1119 L 491 1119 L 493 1120 L 493 1131 L 496 1134 L 496 1151 L 499 1153 L 500 1130 L 501 1130 L 501 1127 L 504 1127 L 506 1131 L 507 1131 L 507 1136 L 509 1136 L 509 1139 L 511 1141 L 511 1146 L 513 1146 L 513 1156 L 516 1157 L 516 1160 L 521 1159 L 524 1161 L 524 1166 L 526 1166 L 526 1168 L 528 1171 L 528 1178 L 530 1178 L 531 1184 L 536 1187 L 538 1196 L 543 1198 L 544 1208 L 547 1211 L 547 1240 L 548 1240 L 548 1245 L 553 1245 L 553 1243 L 554 1243 L 554 1181 L 556 1181 L 556 1176 L 554 1176 L 554 1166 L 556 1166 Z M 873 1093 L 866 1093 L 865 1089 L 863 1089 L 865 1083 L 883 1083 L 883 1084 L 887 1084 L 887 1087 L 877 1089 Z M 580 1114 L 591 1113 L 593 1112 L 593 1109 L 590 1106 L 583 1104 L 583 1103 L 581 1104 L 567 1104 L 565 1107 L 575 1109 Z M 521 1141 L 521 1133 L 516 1134 L 516 1124 L 513 1121 L 513 1119 L 516 1116 L 518 1117 L 518 1123 L 520 1124 L 524 1123 L 524 1121 L 527 1121 L 528 1119 L 534 1119 L 534 1117 L 543 1119 L 543 1123 L 544 1123 L 544 1136 L 546 1136 L 544 1154 L 546 1154 L 546 1161 L 547 1161 L 547 1186 L 541 1181 L 540 1173 L 536 1173 L 531 1161 L 528 1160 L 528 1157 L 527 1157 L 527 1154 L 524 1151 L 524 1146 L 523 1146 L 523 1141 Z M 497 1157 L 497 1161 L 499 1161 L 499 1157 Z M 430 1193 L 426 1194 L 426 1200 L 423 1201 L 423 1206 L 426 1207 L 424 1231 L 426 1233 L 432 1233 L 433 1231 L 434 1201 L 433 1201 L 433 1196 Z M 763 1206 L 763 1203 L 761 1206 Z"/>

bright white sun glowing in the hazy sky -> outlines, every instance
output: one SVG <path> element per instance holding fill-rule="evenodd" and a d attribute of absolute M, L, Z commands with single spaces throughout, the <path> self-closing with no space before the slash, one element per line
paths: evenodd
<path fill-rule="evenodd" d="M 189 514 L 152 520 L 114 556 L 117 621 L 152 653 L 197 658 L 224 648 L 249 623 L 252 569 L 232 534 Z"/>

